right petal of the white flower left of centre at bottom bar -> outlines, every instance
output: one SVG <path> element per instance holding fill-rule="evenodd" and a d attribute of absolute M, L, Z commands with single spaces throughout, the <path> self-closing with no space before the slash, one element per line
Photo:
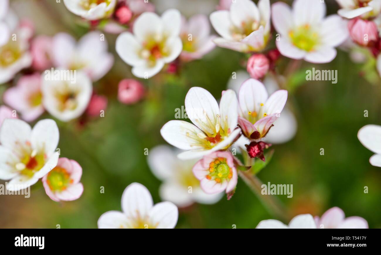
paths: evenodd
<path fill-rule="evenodd" d="M 174 228 L 179 218 L 179 211 L 171 202 L 160 202 L 149 211 L 149 218 L 156 228 Z"/>

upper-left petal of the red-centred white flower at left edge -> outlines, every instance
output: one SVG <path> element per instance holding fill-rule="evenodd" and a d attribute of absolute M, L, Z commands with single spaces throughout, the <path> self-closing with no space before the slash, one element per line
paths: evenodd
<path fill-rule="evenodd" d="M 16 143 L 24 146 L 30 140 L 31 133 L 32 130 L 25 121 L 5 119 L 0 127 L 0 143 L 8 149 L 14 149 Z"/>

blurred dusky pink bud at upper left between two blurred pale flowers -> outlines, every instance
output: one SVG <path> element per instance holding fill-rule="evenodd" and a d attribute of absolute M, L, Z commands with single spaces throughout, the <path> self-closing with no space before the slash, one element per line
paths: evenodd
<path fill-rule="evenodd" d="M 32 40 L 30 53 L 32 53 L 34 69 L 42 71 L 53 66 L 52 47 L 53 40 L 46 35 L 37 36 Z"/>

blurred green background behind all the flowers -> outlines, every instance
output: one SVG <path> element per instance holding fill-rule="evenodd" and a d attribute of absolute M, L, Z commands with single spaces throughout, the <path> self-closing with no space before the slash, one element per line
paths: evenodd
<path fill-rule="evenodd" d="M 79 38 L 87 31 L 86 27 L 76 24 L 76 17 L 67 11 L 62 1 L 11 2 L 19 17 L 34 22 L 36 34 L 69 32 Z M 163 2 L 156 1 L 157 9 L 165 8 Z M 165 4 L 169 5 L 168 2 Z M 218 3 L 193 2 L 173 4 L 177 8 L 180 5 L 190 15 L 194 8 L 193 14 L 199 10 L 211 13 Z M 335 1 L 326 2 L 330 2 L 328 13 L 338 10 Z M 197 8 L 193 6 L 189 10 L 189 5 Z M 115 64 L 103 79 L 94 83 L 97 92 L 109 98 L 105 117 L 81 124 L 78 120 L 70 123 L 56 120 L 61 157 L 77 160 L 83 168 L 82 197 L 72 202 L 53 202 L 41 182 L 32 186 L 28 199 L 21 195 L 2 195 L 1 228 L 56 228 L 57 224 L 61 228 L 96 228 L 102 213 L 121 210 L 122 192 L 132 182 L 144 184 L 154 202 L 159 202 L 160 181 L 152 175 L 144 149 L 165 144 L 159 130 L 165 122 L 174 119 L 175 109 L 184 105 L 190 87 L 206 88 L 219 98 L 232 72 L 245 69 L 242 66 L 244 54 L 216 48 L 202 60 L 184 64 L 179 76 L 160 74 L 142 80 L 148 91 L 146 98 L 126 106 L 116 99 L 117 85 L 119 80 L 133 76 L 130 67 L 115 53 L 116 35 L 106 37 Z M 274 48 L 274 37 L 270 48 Z M 282 73 L 289 61 L 282 58 L 277 71 Z M 347 217 L 360 216 L 368 221 L 370 228 L 380 228 L 381 169 L 369 164 L 372 152 L 360 144 L 357 132 L 364 125 L 381 124 L 381 86 L 363 79 L 362 65 L 352 63 L 341 50 L 329 64 L 303 63 L 300 70 L 304 74 L 303 70 L 312 67 L 338 70 L 338 83 L 298 81 L 295 77 L 288 83 L 288 106 L 298 121 L 298 132 L 290 142 L 273 146 L 275 154 L 258 177 L 264 183 L 293 184 L 292 198 L 277 196 L 293 215 L 321 216 L 328 208 L 338 206 Z M 1 85 L 0 93 L 8 86 L 10 84 Z M 368 110 L 369 117 L 364 117 L 364 110 Z M 41 119 L 44 118 L 51 116 L 45 113 Z M 324 148 L 324 156 L 320 155 L 320 148 Z M 101 186 L 104 194 L 100 193 Z M 364 186 L 368 186 L 368 194 L 364 193 Z M 232 228 L 233 224 L 237 228 L 255 228 L 259 221 L 274 218 L 242 180 L 231 200 L 224 197 L 214 205 L 194 204 L 179 212 L 176 228 Z"/>

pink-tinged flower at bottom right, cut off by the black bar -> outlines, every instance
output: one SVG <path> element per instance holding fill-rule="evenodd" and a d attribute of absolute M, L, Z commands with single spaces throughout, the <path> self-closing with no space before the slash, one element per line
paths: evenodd
<path fill-rule="evenodd" d="M 343 210 L 332 207 L 323 213 L 322 218 L 315 217 L 318 228 L 368 228 L 368 222 L 361 217 L 352 216 L 345 218 Z"/>

